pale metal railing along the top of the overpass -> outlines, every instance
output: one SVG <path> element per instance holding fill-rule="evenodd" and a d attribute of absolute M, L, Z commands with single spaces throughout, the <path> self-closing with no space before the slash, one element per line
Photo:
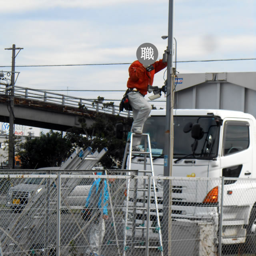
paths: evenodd
<path fill-rule="evenodd" d="M 0 94 L 8 94 L 6 86 L 0 84 Z M 86 110 L 102 112 L 105 114 L 112 114 L 123 117 L 131 117 L 132 112 L 122 111 L 119 113 L 119 106 L 109 106 L 105 102 L 98 102 L 97 100 L 86 100 L 83 98 L 76 98 L 73 96 L 68 96 L 64 94 L 58 94 L 54 92 L 36 90 L 25 88 L 21 86 L 15 86 L 14 97 L 25 98 L 28 100 L 36 100 L 39 102 L 49 103 L 49 104 L 58 104 L 62 106 L 70 106 L 72 108 L 78 108 L 79 105 L 83 106 Z"/>

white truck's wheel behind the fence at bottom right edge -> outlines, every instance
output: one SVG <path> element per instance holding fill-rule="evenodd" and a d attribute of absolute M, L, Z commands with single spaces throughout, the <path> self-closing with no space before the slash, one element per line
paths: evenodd
<path fill-rule="evenodd" d="M 245 241 L 246 252 L 256 253 L 256 207 L 252 208 Z"/>

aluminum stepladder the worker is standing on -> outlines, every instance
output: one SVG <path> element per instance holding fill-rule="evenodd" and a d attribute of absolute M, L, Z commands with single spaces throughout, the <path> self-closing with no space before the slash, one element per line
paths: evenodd
<path fill-rule="evenodd" d="M 142 138 L 145 139 L 144 143 L 144 150 L 145 152 L 137 152 L 137 151 L 132 151 L 132 142 L 133 138 L 135 136 L 141 136 Z M 146 173 L 151 174 L 151 176 L 154 176 L 154 167 L 153 167 L 153 159 L 152 159 L 152 150 L 151 150 L 151 144 L 150 144 L 150 136 L 149 134 L 134 134 L 129 132 L 127 142 L 126 142 L 126 148 L 124 152 L 124 160 L 122 163 L 122 169 L 124 169 L 124 165 L 126 163 L 126 158 L 128 156 L 128 166 L 126 166 L 126 169 L 131 170 L 131 162 L 132 162 L 132 157 L 133 156 L 144 156 L 144 170 L 139 170 L 138 173 L 142 173 L 142 175 L 145 175 Z M 147 166 L 147 156 L 150 159 L 150 170 L 146 170 Z M 128 172 L 128 175 L 131 175 L 131 172 Z M 145 181 L 145 180 L 144 180 Z M 150 179 L 149 179 L 150 181 Z M 144 202 L 145 202 L 145 192 L 148 190 L 148 199 L 147 203 L 149 202 L 150 205 L 150 200 L 151 200 L 151 192 L 154 193 L 154 202 L 155 202 L 155 209 L 156 209 L 156 219 L 157 219 L 157 232 L 159 235 L 159 242 L 160 246 L 150 246 L 150 248 L 158 248 L 161 252 L 161 256 L 163 256 L 163 242 L 162 242 L 162 231 L 161 231 L 161 225 L 160 225 L 160 216 L 159 216 L 159 209 L 158 209 L 158 201 L 157 201 L 157 195 L 156 195 L 156 182 L 153 179 L 153 190 L 151 188 L 151 182 L 148 184 L 148 189 L 145 189 L 145 182 L 144 182 L 144 187 L 143 188 L 138 188 L 138 180 L 136 180 L 134 188 L 131 188 L 130 184 L 130 179 L 128 180 L 127 183 L 127 195 L 126 195 L 126 212 L 125 212 L 125 227 L 124 227 L 124 250 L 123 250 L 123 256 L 126 255 L 126 251 L 129 249 L 129 246 L 127 246 L 127 233 L 128 233 L 128 212 L 129 212 L 129 201 L 130 201 L 130 194 L 133 192 L 133 224 L 132 224 L 132 245 L 134 245 L 134 239 L 135 239 L 135 229 L 140 228 L 140 229 L 146 229 L 144 226 L 136 227 L 136 210 L 139 208 L 136 206 L 137 204 L 137 193 L 138 191 L 144 191 L 143 197 L 144 197 Z M 148 206 L 147 209 L 150 209 Z M 145 212 L 146 208 L 141 208 L 140 210 L 143 210 Z M 146 213 L 147 214 L 147 225 L 150 223 L 150 210 Z M 150 228 L 150 229 L 156 229 Z M 142 232 L 144 235 L 144 232 Z M 149 243 L 148 240 L 149 238 L 146 238 L 146 246 L 149 248 Z M 136 248 L 146 248 L 146 246 L 135 246 Z M 148 255 L 148 251 L 146 251 L 146 255 Z"/>

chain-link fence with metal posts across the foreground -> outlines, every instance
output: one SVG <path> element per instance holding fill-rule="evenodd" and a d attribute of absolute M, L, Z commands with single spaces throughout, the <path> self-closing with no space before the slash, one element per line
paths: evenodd
<path fill-rule="evenodd" d="M 255 179 L 124 174 L 1 172 L 0 255 L 256 255 Z"/>

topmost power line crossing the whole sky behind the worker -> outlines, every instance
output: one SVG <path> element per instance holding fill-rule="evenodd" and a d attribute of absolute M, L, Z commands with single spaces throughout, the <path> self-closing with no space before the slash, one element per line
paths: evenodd
<path fill-rule="evenodd" d="M 215 61 L 233 61 L 233 60 L 256 60 L 256 58 L 238 58 L 238 59 L 217 59 L 217 60 L 180 60 L 174 63 L 185 62 L 215 62 Z M 53 65 L 17 65 L 19 68 L 26 67 L 62 67 L 62 66 L 104 66 L 104 65 L 129 65 L 131 63 L 96 63 L 96 64 L 53 64 Z M 10 68 L 11 66 L 0 66 L 0 68 Z"/>

